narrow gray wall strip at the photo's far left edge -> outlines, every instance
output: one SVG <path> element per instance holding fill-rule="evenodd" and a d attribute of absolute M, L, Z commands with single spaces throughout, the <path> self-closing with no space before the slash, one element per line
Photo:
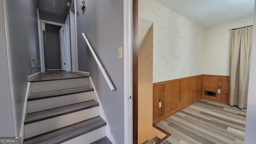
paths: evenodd
<path fill-rule="evenodd" d="M 12 99 L 4 28 L 3 1 L 0 1 L 0 136 L 14 136 Z"/>

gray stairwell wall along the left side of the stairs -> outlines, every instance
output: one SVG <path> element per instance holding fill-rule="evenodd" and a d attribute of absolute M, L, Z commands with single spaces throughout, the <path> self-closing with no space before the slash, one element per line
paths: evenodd
<path fill-rule="evenodd" d="M 40 72 L 38 64 L 36 64 L 36 68 L 32 68 L 31 64 L 31 57 L 40 59 L 37 6 L 36 2 L 32 0 L 6 0 L 6 3 L 9 27 L 6 31 L 9 33 L 10 40 L 9 60 L 12 70 L 12 89 L 14 91 L 12 94 L 12 107 L 14 122 L 16 121 L 14 129 L 18 133 L 22 119 L 28 76 Z M 1 130 L 3 129 L 1 128 Z"/>

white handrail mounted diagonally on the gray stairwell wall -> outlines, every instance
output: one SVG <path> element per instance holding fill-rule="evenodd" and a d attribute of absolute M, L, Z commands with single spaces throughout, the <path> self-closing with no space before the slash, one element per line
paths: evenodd
<path fill-rule="evenodd" d="M 84 33 L 82 33 L 83 37 L 84 37 L 84 40 L 86 41 L 86 44 L 88 45 L 90 51 L 92 52 L 92 56 L 94 57 L 95 61 L 97 62 L 99 68 L 100 68 L 100 71 L 102 72 L 105 80 L 107 81 L 108 83 L 108 86 L 110 88 L 111 91 L 115 91 L 116 88 L 114 87 L 112 81 L 110 80 L 106 70 L 104 69 L 104 67 L 102 66 L 100 60 L 98 59 L 97 55 L 95 54 L 94 50 L 92 49 L 92 46 L 90 45 L 90 42 L 88 41 L 88 39 L 86 38 L 86 36 L 84 35 Z"/>

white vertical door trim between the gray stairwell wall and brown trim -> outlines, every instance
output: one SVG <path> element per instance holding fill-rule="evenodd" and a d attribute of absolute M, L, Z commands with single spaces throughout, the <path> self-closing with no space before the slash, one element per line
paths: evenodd
<path fill-rule="evenodd" d="M 132 0 L 124 0 L 124 144 L 132 144 Z"/>

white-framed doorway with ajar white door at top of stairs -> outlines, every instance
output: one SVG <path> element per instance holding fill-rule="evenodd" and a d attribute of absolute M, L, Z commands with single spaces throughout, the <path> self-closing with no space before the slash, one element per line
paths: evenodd
<path fill-rule="evenodd" d="M 39 31 L 42 72 L 45 70 L 71 71 L 70 46 L 68 45 L 70 38 L 67 38 L 69 30 L 66 30 L 66 25 L 40 20 Z"/>

